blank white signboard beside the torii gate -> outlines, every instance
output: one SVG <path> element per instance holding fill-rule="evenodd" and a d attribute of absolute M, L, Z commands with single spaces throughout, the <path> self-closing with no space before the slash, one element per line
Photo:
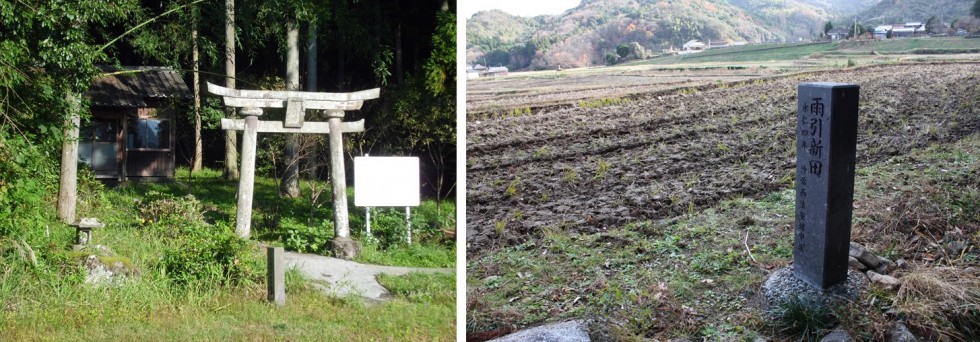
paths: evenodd
<path fill-rule="evenodd" d="M 354 205 L 419 205 L 418 157 L 354 157 Z"/>

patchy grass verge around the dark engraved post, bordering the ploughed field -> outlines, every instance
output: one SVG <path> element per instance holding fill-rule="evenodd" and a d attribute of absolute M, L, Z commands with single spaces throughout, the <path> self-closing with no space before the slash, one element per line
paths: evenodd
<path fill-rule="evenodd" d="M 829 316 L 784 307 L 793 310 L 773 319 L 760 287 L 792 260 L 786 189 L 597 233 L 546 228 L 471 258 L 467 331 L 593 318 L 619 340 L 798 339 L 839 320 L 858 339 L 881 340 L 892 309 L 930 339 L 980 331 L 977 277 L 965 270 L 980 266 L 980 251 L 944 252 L 950 242 L 980 242 L 980 136 L 859 167 L 851 239 L 914 265 L 896 274 L 897 293 L 875 288 Z"/>

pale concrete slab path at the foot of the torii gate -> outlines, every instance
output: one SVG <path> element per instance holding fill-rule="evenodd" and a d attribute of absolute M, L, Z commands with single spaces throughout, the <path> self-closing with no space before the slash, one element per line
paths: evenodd
<path fill-rule="evenodd" d="M 286 252 L 286 268 L 297 268 L 327 294 L 356 295 L 372 300 L 386 300 L 391 294 L 378 283 L 377 275 L 404 275 L 411 272 L 453 273 L 451 268 L 418 268 L 360 264 L 315 254 Z M 327 285 L 324 285 L 327 284 Z"/>

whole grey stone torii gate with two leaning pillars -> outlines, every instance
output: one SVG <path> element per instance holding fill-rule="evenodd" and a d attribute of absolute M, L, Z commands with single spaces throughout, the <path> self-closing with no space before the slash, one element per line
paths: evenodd
<path fill-rule="evenodd" d="M 221 119 L 221 129 L 244 131 L 242 139 L 241 176 L 238 180 L 238 208 L 235 232 L 243 238 L 251 235 L 252 195 L 255 185 L 255 149 L 257 133 L 309 133 L 330 135 L 330 178 L 333 188 L 334 231 L 331 241 L 334 255 L 353 259 L 360 246 L 350 238 L 347 215 L 347 176 L 344 170 L 344 148 L 341 133 L 363 132 L 364 119 L 341 122 L 344 111 L 361 108 L 364 100 L 380 96 L 379 88 L 352 93 L 316 93 L 303 91 L 270 91 L 229 89 L 208 83 L 208 92 L 224 98 L 225 106 L 243 108 L 244 119 Z M 286 108 L 282 122 L 259 121 L 262 108 Z M 305 122 L 306 110 L 325 110 L 327 122 Z"/>

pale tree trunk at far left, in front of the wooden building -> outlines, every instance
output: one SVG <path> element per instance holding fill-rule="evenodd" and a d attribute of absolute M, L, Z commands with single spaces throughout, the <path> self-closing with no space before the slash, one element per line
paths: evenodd
<path fill-rule="evenodd" d="M 75 223 L 75 205 L 78 198 L 78 125 L 81 124 L 80 98 L 74 94 L 68 100 L 68 119 L 65 122 L 65 138 L 61 145 L 61 184 L 58 187 L 58 217 L 61 222 Z"/>

